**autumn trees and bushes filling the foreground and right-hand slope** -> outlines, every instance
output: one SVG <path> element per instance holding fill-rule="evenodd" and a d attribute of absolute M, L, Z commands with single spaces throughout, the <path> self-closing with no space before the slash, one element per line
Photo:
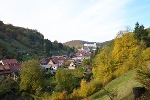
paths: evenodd
<path fill-rule="evenodd" d="M 44 50 L 44 47 L 43 44 L 41 48 Z M 145 29 L 137 22 L 133 32 L 118 32 L 114 40 L 103 48 L 97 48 L 90 59 L 83 60 L 81 66 L 74 70 L 59 68 L 56 74 L 52 75 L 41 70 L 37 60 L 23 62 L 20 78 L 17 81 L 10 80 L 9 77 L 5 81 L 0 80 L 0 84 L 3 85 L 0 92 L 15 88 L 17 92 L 13 95 L 24 100 L 84 100 L 103 89 L 109 99 L 115 100 L 117 93 L 121 91 L 112 96 L 104 87 L 132 70 L 136 71 L 137 82 L 150 91 L 149 65 L 150 29 Z M 7 87 L 7 82 L 12 87 Z M 9 98 L 11 96 L 7 96 L 7 99 Z"/>

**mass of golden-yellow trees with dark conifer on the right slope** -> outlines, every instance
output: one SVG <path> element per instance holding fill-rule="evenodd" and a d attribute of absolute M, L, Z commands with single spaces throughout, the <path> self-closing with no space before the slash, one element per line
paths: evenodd
<path fill-rule="evenodd" d="M 96 55 L 92 69 L 94 79 L 107 84 L 129 70 L 145 67 L 146 62 L 150 60 L 150 49 L 146 44 L 149 40 L 145 39 L 148 39 L 148 32 L 143 26 L 136 26 L 134 33 L 120 31 L 116 38 Z"/>

